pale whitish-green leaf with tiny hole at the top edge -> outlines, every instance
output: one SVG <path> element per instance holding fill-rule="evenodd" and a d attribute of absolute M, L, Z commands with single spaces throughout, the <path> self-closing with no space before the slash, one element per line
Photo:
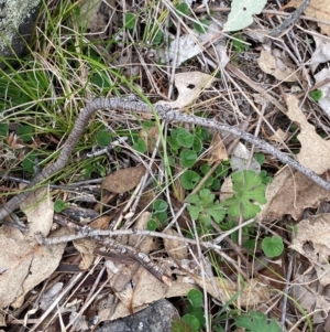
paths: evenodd
<path fill-rule="evenodd" d="M 238 31 L 249 26 L 253 23 L 252 15 L 260 14 L 266 3 L 267 0 L 233 0 L 223 32 Z"/>

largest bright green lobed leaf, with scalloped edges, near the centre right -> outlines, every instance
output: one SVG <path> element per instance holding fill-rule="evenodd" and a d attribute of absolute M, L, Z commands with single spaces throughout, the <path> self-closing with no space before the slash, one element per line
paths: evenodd
<path fill-rule="evenodd" d="M 267 203 L 265 199 L 266 186 L 263 183 L 263 179 L 251 170 L 234 172 L 231 178 L 234 194 L 226 200 L 228 214 L 230 216 L 243 214 L 245 219 L 255 217 L 261 211 L 261 207 L 255 202 L 260 204 Z"/>

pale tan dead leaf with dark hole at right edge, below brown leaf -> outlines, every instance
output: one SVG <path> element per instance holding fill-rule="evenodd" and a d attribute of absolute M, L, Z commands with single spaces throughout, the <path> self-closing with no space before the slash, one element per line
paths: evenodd
<path fill-rule="evenodd" d="M 304 255 L 317 271 L 322 286 L 330 283 L 330 214 L 323 213 L 297 224 L 292 249 Z"/>

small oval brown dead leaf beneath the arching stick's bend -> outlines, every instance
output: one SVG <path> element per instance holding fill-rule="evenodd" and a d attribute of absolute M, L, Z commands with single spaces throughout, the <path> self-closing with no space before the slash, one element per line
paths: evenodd
<path fill-rule="evenodd" d="M 143 164 L 135 168 L 119 170 L 108 175 L 103 180 L 101 188 L 121 194 L 134 189 L 140 183 L 144 173 L 145 168 Z"/>

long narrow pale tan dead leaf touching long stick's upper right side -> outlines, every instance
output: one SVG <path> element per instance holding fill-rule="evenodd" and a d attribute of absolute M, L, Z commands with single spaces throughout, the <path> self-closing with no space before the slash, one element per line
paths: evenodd
<path fill-rule="evenodd" d="M 323 140 L 310 125 L 301 109 L 298 107 L 298 98 L 294 95 L 287 96 L 287 116 L 298 124 L 300 133 L 297 136 L 301 143 L 298 161 L 317 174 L 324 173 L 330 168 L 330 141 Z"/>

